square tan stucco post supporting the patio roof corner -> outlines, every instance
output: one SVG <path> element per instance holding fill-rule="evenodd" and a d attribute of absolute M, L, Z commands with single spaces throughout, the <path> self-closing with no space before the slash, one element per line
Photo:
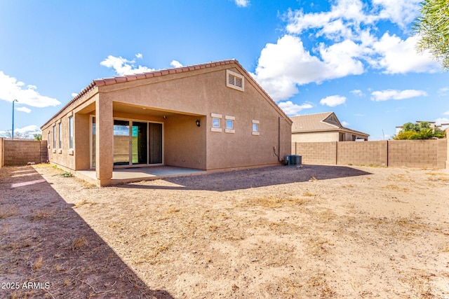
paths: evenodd
<path fill-rule="evenodd" d="M 99 95 L 95 101 L 95 172 L 100 186 L 108 185 L 114 167 L 114 120 L 112 101 L 106 95 Z"/>

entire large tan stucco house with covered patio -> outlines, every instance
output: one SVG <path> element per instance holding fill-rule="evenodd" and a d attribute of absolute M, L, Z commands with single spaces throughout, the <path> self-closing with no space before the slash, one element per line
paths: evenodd
<path fill-rule="evenodd" d="M 95 169 L 105 186 L 121 167 L 278 165 L 291 124 L 239 62 L 225 60 L 94 80 L 41 130 L 50 162 Z"/>

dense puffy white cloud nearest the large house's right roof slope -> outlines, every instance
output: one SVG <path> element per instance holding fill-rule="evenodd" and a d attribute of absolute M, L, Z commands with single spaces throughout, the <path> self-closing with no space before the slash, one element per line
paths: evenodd
<path fill-rule="evenodd" d="M 321 46 L 320 60 L 304 49 L 300 38 L 285 35 L 275 44 L 267 43 L 253 77 L 274 100 L 288 99 L 298 92 L 297 85 L 361 74 L 363 65 L 351 58 L 358 51 L 351 41 Z"/>

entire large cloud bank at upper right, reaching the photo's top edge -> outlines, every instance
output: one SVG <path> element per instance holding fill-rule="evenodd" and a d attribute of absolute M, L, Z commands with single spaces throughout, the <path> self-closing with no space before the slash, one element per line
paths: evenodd
<path fill-rule="evenodd" d="M 260 53 L 255 80 L 275 100 L 292 97 L 300 85 L 363 74 L 368 67 L 385 74 L 436 72 L 440 64 L 428 51 L 415 50 L 417 36 L 380 36 L 377 25 L 392 22 L 408 30 L 420 0 L 335 0 L 329 11 L 289 11 L 287 34 Z M 305 36 L 307 34 L 307 36 Z M 307 39 L 316 48 L 306 48 Z"/>

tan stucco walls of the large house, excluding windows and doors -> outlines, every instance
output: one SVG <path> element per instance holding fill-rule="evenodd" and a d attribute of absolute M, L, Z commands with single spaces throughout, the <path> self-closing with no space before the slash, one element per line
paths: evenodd
<path fill-rule="evenodd" d="M 227 69 L 244 78 L 244 91 L 227 86 Z M 276 165 L 279 158 L 290 154 L 291 120 L 238 63 L 187 72 L 172 69 L 167 75 L 156 75 L 134 81 L 105 79 L 114 83 L 94 84 L 78 98 L 79 102 L 52 118 L 42 128 L 43 132 L 51 132 L 51 162 L 69 169 L 88 169 L 91 148 L 95 147 L 92 162 L 96 176 L 101 184 L 107 184 L 112 178 L 114 148 L 125 158 L 130 150 L 129 137 L 114 138 L 114 119 L 161 123 L 163 165 L 238 169 Z M 74 116 L 73 154 L 68 151 L 67 113 Z M 221 132 L 211 130 L 213 113 L 221 115 Z M 60 117 L 62 114 L 65 116 Z M 92 145 L 91 116 L 96 120 L 96 142 Z M 232 130 L 227 130 L 227 119 L 233 122 Z M 53 146 L 53 124 L 58 130 L 59 122 L 61 148 L 58 134 L 57 146 Z M 255 123 L 257 132 L 253 132 Z"/>

